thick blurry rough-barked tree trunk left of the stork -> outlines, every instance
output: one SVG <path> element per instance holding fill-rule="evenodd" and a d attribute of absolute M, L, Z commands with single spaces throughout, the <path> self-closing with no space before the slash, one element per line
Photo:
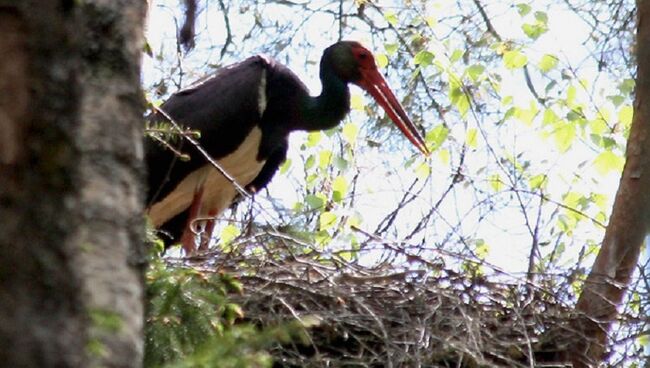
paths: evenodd
<path fill-rule="evenodd" d="M 138 367 L 144 1 L 0 0 L 0 362 Z"/>

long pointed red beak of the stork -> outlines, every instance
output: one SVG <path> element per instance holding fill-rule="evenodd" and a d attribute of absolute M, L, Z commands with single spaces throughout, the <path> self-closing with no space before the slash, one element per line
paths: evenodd
<path fill-rule="evenodd" d="M 386 80 L 376 69 L 362 69 L 361 80 L 356 82 L 359 87 L 365 89 L 377 101 L 390 119 L 397 125 L 399 130 L 406 138 L 415 145 L 424 155 L 429 156 L 430 152 L 424 143 L 424 138 L 420 135 L 411 119 L 404 112 L 404 108 L 399 103 L 393 91 L 386 83 Z"/>

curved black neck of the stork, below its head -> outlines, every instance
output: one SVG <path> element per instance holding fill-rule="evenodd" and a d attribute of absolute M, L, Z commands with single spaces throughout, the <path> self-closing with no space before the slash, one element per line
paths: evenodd
<path fill-rule="evenodd" d="M 321 63 L 321 94 L 306 96 L 301 111 L 301 130 L 325 130 L 337 126 L 350 111 L 348 83 L 334 74 L 329 63 Z"/>

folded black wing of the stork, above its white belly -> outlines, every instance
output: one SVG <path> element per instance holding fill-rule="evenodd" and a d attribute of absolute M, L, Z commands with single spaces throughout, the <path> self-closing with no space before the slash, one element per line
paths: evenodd
<path fill-rule="evenodd" d="M 220 69 L 205 82 L 175 93 L 160 109 L 181 126 L 199 131 L 201 147 L 219 159 L 234 151 L 260 123 L 260 85 L 272 64 L 262 56 L 254 56 Z M 165 120 L 159 114 L 154 114 L 153 119 Z M 148 205 L 163 198 L 185 176 L 206 163 L 205 158 L 185 140 L 176 140 L 172 145 L 188 154 L 190 160 L 180 161 L 174 152 L 159 142 L 151 139 L 146 142 Z"/>

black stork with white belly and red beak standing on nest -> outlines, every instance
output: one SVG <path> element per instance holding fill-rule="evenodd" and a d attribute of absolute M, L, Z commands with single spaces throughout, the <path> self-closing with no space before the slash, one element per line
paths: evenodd
<path fill-rule="evenodd" d="M 204 151 L 251 193 L 265 187 L 285 160 L 289 133 L 330 129 L 343 120 L 350 110 L 348 83 L 370 93 L 401 132 L 428 155 L 372 53 L 360 43 L 341 41 L 325 49 L 320 79 L 322 92 L 312 97 L 286 66 L 258 55 L 175 93 L 160 110 L 179 125 L 198 130 Z M 164 120 L 161 115 L 154 114 L 154 119 Z M 174 146 L 171 150 L 147 142 L 147 212 L 154 227 L 173 241 L 180 240 L 185 253 L 192 254 L 196 250 L 192 223 L 218 216 L 238 192 L 195 146 L 185 140 Z M 190 159 L 179 160 L 178 151 Z M 211 234 L 213 226 L 214 221 L 208 221 L 204 234 Z M 200 243 L 199 249 L 205 249 L 207 239 Z"/>

